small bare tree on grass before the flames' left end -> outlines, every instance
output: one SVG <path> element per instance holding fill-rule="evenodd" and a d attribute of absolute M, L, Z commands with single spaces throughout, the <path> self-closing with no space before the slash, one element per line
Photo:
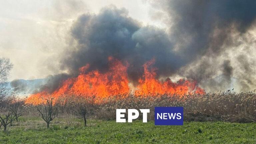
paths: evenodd
<path fill-rule="evenodd" d="M 58 113 L 58 104 L 53 105 L 53 98 L 45 99 L 40 105 L 36 106 L 38 112 L 41 114 L 43 120 L 47 124 L 47 128 L 49 128 L 49 124 L 52 120 L 54 120 L 55 116 Z"/>

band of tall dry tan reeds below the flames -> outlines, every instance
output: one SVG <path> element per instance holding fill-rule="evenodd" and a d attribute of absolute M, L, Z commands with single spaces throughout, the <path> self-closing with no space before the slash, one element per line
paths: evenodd
<path fill-rule="evenodd" d="M 154 120 L 154 107 L 184 107 L 185 121 L 229 121 L 255 122 L 256 121 L 256 92 L 246 93 L 206 93 L 199 94 L 165 94 L 116 95 L 101 99 L 87 96 L 63 96 L 60 113 L 73 115 L 76 102 L 86 99 L 87 117 L 96 119 L 116 119 L 116 109 L 150 109 L 149 120 Z M 64 103 L 64 104 L 63 104 Z M 61 115 L 60 114 L 60 115 Z M 127 115 L 126 115 L 127 116 Z M 140 115 L 141 116 L 141 115 Z M 139 117 L 141 118 L 141 117 Z"/>

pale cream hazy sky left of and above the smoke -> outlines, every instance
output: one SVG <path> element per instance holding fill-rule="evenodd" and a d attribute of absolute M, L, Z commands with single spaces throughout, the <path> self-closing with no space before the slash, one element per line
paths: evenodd
<path fill-rule="evenodd" d="M 153 18 L 154 8 L 143 0 L 8 0 L 0 1 L 0 56 L 14 64 L 9 80 L 44 78 L 58 73 L 46 61 L 67 46 L 70 26 L 83 13 L 102 7 L 126 8 L 143 25 L 164 27 Z"/>

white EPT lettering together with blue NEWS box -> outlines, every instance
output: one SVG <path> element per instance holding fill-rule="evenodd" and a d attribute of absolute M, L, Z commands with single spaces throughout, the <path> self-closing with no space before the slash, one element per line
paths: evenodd
<path fill-rule="evenodd" d="M 140 109 L 143 122 L 147 122 L 149 109 Z M 116 122 L 126 122 L 126 109 L 116 109 Z M 139 111 L 128 109 L 127 119 L 132 122 L 139 117 Z M 155 125 L 183 125 L 183 107 L 155 107 Z"/>

